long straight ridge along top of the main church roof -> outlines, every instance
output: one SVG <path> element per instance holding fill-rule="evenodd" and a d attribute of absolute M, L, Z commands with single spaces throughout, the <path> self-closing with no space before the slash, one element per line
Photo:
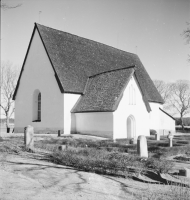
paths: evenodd
<path fill-rule="evenodd" d="M 44 25 L 38 24 L 38 23 L 36 23 L 36 22 L 35 22 L 34 24 L 35 24 L 36 26 L 37 26 L 37 25 L 44 26 Z M 137 57 L 138 57 L 138 55 L 135 54 L 135 53 L 131 53 L 131 52 L 128 52 L 128 51 L 124 51 L 124 50 L 122 50 L 122 49 L 118 49 L 118 48 L 116 48 L 116 47 L 110 46 L 110 45 L 108 45 L 108 44 L 104 44 L 104 43 L 102 43 L 102 42 L 97 42 L 97 41 L 95 41 L 95 40 L 88 39 L 88 38 L 85 38 L 85 37 L 82 37 L 82 36 L 78 36 L 78 35 L 76 35 L 76 34 L 69 33 L 69 32 L 65 32 L 65 31 L 62 31 L 62 30 L 60 30 L 60 29 L 55 29 L 55 28 L 52 28 L 52 27 L 49 27 L 49 26 L 44 26 L 44 27 L 53 29 L 53 30 L 55 30 L 55 31 L 60 31 L 60 32 L 63 32 L 63 33 L 67 33 L 67 34 L 69 34 L 69 35 L 76 36 L 76 37 L 82 38 L 82 39 L 84 39 L 84 40 L 92 41 L 92 42 L 95 42 L 96 44 L 105 45 L 105 46 L 111 47 L 111 48 L 113 48 L 113 49 L 115 49 L 115 50 L 117 50 L 117 51 L 120 51 L 120 52 L 123 52 L 123 53 L 128 53 L 128 54 L 131 54 L 131 55 L 134 55 L 134 56 L 137 56 Z"/>

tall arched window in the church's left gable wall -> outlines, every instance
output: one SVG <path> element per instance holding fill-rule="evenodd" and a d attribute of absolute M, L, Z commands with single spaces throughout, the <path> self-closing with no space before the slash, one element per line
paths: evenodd
<path fill-rule="evenodd" d="M 41 92 L 39 90 L 35 90 L 33 94 L 33 122 L 41 121 Z"/>

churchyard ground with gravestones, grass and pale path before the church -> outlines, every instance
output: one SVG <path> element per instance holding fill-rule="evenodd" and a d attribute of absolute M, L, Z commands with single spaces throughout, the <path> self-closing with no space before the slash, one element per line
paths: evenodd
<path fill-rule="evenodd" d="M 0 152 L 0 178 L 8 186 L 0 185 L 3 199 L 26 199 L 28 193 L 34 193 L 28 199 L 190 197 L 189 134 L 113 141 L 33 134 L 28 127 L 25 134 L 1 134 Z"/>

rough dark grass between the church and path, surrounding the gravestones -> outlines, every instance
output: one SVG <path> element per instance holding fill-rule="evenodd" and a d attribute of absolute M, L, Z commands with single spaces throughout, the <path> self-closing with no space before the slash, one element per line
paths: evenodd
<path fill-rule="evenodd" d="M 87 137 L 88 138 L 88 137 Z M 173 147 L 168 147 L 168 139 L 161 136 L 160 141 L 147 137 L 149 158 L 137 155 L 137 146 L 124 140 L 91 140 L 75 137 L 57 137 L 35 143 L 36 148 L 49 150 L 49 159 L 58 164 L 72 166 L 83 171 L 100 174 L 131 176 L 147 170 L 156 173 L 169 172 L 173 162 L 169 156 L 190 154 L 190 136 L 175 136 Z M 63 145 L 65 150 L 60 151 Z"/>

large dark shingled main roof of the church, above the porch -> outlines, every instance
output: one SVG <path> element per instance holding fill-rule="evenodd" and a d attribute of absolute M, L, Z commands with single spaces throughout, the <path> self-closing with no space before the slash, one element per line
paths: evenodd
<path fill-rule="evenodd" d="M 36 29 L 62 92 L 83 94 L 89 77 L 110 70 L 136 66 L 135 75 L 143 95 L 148 101 L 163 103 L 137 55 L 35 23 L 34 30 Z M 93 78 L 90 81 L 93 82 Z"/>

